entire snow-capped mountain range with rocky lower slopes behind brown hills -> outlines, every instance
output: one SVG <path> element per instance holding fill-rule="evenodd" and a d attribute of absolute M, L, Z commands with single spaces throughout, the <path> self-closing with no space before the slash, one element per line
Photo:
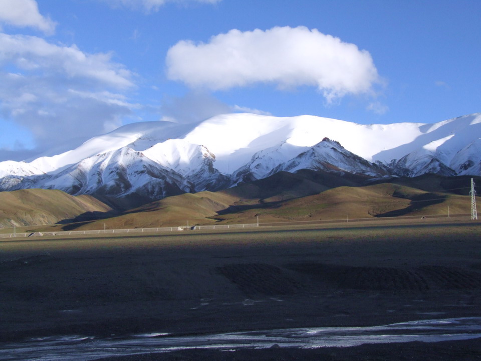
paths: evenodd
<path fill-rule="evenodd" d="M 144 200 L 308 168 L 367 177 L 481 175 L 481 113 L 433 124 L 224 114 L 132 123 L 61 154 L 0 162 L 0 191 L 60 189 Z"/>

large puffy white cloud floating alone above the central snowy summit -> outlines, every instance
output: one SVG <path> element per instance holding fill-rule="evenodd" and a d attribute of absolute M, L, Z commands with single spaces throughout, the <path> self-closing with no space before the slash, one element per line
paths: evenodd
<path fill-rule="evenodd" d="M 307 85 L 317 87 L 328 102 L 370 93 L 380 81 L 367 51 L 306 27 L 231 30 L 206 44 L 180 41 L 169 49 L 166 63 L 168 78 L 191 88 Z"/>

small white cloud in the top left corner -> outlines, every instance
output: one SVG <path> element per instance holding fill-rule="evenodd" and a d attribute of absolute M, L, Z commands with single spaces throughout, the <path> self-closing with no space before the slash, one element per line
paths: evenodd
<path fill-rule="evenodd" d="M 35 0 L 0 1 L 0 24 L 6 23 L 16 27 L 31 27 L 52 35 L 55 23 L 43 17 Z"/>

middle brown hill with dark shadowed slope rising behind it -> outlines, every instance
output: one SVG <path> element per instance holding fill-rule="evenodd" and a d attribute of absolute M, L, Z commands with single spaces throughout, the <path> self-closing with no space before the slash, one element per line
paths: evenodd
<path fill-rule="evenodd" d="M 264 179 L 217 192 L 199 192 L 167 197 L 138 207 L 121 216 L 84 222 L 66 226 L 65 229 L 109 229 L 174 227 L 194 224 L 216 224 L 222 221 L 219 215 L 238 214 L 244 210 L 247 218 L 244 223 L 257 222 L 255 210 L 277 207 L 279 202 L 302 198 L 339 186 L 360 186 L 366 180 L 364 176 L 354 174 L 340 175 L 325 171 L 304 169 L 297 173 L 278 172 Z M 273 220 L 276 220 L 274 217 Z M 234 220 L 226 222 L 237 223 Z"/>

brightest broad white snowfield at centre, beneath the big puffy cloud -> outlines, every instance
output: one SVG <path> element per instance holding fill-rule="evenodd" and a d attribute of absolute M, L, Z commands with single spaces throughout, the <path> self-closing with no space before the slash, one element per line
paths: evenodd
<path fill-rule="evenodd" d="M 223 114 L 200 123 L 185 139 L 204 144 L 216 155 L 216 167 L 230 173 L 250 161 L 258 151 L 274 147 L 282 141 L 299 147 L 311 147 L 324 137 L 336 139 L 346 144 L 346 148 L 353 153 L 372 160 L 374 155 L 385 149 L 411 142 L 422 134 L 419 130 L 422 125 L 361 125 L 312 115 L 274 117 Z M 380 156 L 375 160 L 384 159 Z"/>

